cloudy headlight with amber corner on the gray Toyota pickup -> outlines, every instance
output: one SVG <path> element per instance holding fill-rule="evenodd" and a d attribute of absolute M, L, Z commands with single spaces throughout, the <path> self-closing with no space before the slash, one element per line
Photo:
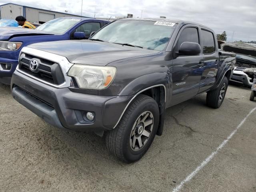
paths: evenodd
<path fill-rule="evenodd" d="M 116 68 L 74 64 L 68 76 L 74 77 L 79 88 L 101 90 L 108 87 L 116 75 Z"/>

